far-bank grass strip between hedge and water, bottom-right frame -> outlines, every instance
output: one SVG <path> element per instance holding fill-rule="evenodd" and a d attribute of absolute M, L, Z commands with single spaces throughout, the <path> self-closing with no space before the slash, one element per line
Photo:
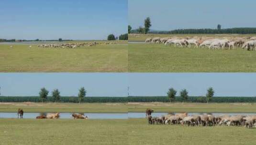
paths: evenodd
<path fill-rule="evenodd" d="M 145 112 L 146 108 L 155 112 L 194 113 L 256 113 L 256 104 L 249 103 L 129 103 L 129 112 Z"/>

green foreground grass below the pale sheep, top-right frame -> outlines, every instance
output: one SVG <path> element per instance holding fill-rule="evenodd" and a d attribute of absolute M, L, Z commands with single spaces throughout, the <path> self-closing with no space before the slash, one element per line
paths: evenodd
<path fill-rule="evenodd" d="M 129 44 L 128 72 L 256 72 L 256 51 Z"/>

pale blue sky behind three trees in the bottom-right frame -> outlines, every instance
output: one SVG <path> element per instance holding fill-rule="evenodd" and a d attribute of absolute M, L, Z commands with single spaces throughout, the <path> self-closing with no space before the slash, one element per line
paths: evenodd
<path fill-rule="evenodd" d="M 215 96 L 256 96 L 256 73 L 131 73 L 130 95 L 166 95 L 168 88 L 189 95 L 205 95 L 209 87 Z"/>

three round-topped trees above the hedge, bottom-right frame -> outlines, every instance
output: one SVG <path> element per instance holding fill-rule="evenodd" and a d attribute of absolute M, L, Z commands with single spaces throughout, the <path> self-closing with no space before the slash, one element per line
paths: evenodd
<path fill-rule="evenodd" d="M 169 88 L 168 92 L 167 92 L 167 97 L 169 99 L 170 102 L 174 101 L 175 98 L 176 98 L 176 93 L 177 91 L 174 89 L 174 88 Z M 184 101 L 187 101 L 188 98 L 189 98 L 189 95 L 188 95 L 188 91 L 186 89 L 183 89 L 179 92 L 179 95 L 180 97 L 184 100 Z M 206 93 L 206 100 L 207 100 L 207 103 L 211 100 L 211 98 L 214 96 L 214 90 L 212 87 L 210 87 L 208 90 L 207 90 L 207 93 Z"/>

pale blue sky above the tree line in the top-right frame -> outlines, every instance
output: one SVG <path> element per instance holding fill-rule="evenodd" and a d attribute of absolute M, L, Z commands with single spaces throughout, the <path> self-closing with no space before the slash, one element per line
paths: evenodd
<path fill-rule="evenodd" d="M 256 27 L 256 0 L 129 0 L 129 24 L 152 30 Z"/>

